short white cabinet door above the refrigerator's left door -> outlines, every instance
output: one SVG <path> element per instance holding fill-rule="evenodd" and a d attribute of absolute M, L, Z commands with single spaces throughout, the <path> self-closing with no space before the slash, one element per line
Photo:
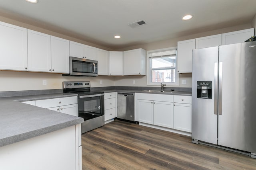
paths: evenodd
<path fill-rule="evenodd" d="M 217 34 L 217 35 L 211 35 L 207 37 L 196 38 L 196 49 L 222 45 L 221 37 L 222 37 L 221 34 Z"/>

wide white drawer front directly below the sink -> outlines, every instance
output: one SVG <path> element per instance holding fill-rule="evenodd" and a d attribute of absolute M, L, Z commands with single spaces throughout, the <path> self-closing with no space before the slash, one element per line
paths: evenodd
<path fill-rule="evenodd" d="M 138 93 L 137 99 L 141 100 L 154 100 L 154 101 L 162 101 L 162 102 L 173 102 L 173 95 L 170 94 L 146 94 L 146 93 Z"/>

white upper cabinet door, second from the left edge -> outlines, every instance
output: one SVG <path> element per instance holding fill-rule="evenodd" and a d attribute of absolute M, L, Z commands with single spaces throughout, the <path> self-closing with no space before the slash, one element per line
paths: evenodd
<path fill-rule="evenodd" d="M 51 36 L 28 29 L 28 70 L 51 72 Z"/>

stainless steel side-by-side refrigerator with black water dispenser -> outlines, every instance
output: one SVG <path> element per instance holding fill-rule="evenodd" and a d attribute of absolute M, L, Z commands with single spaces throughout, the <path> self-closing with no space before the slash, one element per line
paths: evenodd
<path fill-rule="evenodd" d="M 256 41 L 193 50 L 192 142 L 256 158 Z"/>

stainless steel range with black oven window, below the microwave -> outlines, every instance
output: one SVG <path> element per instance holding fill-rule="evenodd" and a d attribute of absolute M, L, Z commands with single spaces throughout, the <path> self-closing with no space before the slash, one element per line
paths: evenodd
<path fill-rule="evenodd" d="M 90 91 L 90 82 L 63 82 L 63 92 L 78 94 L 78 117 L 84 118 L 82 133 L 104 125 L 104 92 Z"/>

